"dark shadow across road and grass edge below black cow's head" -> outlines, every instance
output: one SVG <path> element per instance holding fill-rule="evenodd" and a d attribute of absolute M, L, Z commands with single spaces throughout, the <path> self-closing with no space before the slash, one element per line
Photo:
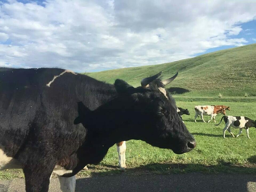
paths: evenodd
<path fill-rule="evenodd" d="M 147 164 L 126 172 L 91 172 L 89 178 L 76 180 L 76 191 L 248 191 L 256 182 L 256 167 L 239 167 L 225 162 L 217 165 Z M 231 173 L 231 174 L 227 174 Z M 238 174 L 239 173 L 239 174 Z M 251 184 L 255 186 L 255 184 Z"/>

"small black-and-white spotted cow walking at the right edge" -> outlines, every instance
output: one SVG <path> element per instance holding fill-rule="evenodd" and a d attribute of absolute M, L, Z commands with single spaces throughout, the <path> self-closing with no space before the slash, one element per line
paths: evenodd
<path fill-rule="evenodd" d="M 247 137 L 249 137 L 249 127 L 255 127 L 256 128 L 256 121 L 249 119 L 248 117 L 244 116 L 223 116 L 218 124 L 218 126 L 222 119 L 224 119 L 225 127 L 223 129 L 223 137 L 225 138 L 225 132 L 228 130 L 232 137 L 235 137 L 234 134 L 230 131 L 230 127 L 234 127 L 236 129 L 239 128 L 239 133 L 236 135 L 238 137 L 242 133 L 242 129 L 244 128 L 246 130 Z"/>

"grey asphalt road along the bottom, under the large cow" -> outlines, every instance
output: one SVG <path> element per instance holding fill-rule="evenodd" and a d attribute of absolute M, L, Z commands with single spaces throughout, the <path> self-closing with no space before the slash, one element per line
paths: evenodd
<path fill-rule="evenodd" d="M 57 178 L 50 182 L 50 192 L 61 192 Z M 76 179 L 76 192 L 256 192 L 252 174 L 116 174 Z M 0 192 L 25 192 L 24 179 L 0 180 Z"/>

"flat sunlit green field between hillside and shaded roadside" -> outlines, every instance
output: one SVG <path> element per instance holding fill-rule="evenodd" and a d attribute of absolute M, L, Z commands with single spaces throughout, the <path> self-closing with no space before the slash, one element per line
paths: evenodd
<path fill-rule="evenodd" d="M 177 172 L 178 164 L 185 172 L 202 171 L 202 172 L 254 172 L 256 173 L 256 129 L 250 128 L 249 135 L 246 137 L 245 130 L 238 138 L 232 138 L 226 132 L 226 139 L 222 137 L 224 122 L 215 126 L 213 121 L 203 123 L 197 118 L 194 122 L 194 106 L 206 104 L 205 102 L 177 102 L 177 106 L 188 108 L 190 116 L 184 115 L 183 119 L 188 130 L 194 135 L 197 146 L 189 153 L 182 155 L 174 154 L 171 150 L 152 147 L 145 142 L 130 140 L 127 142 L 126 160 L 128 168 L 146 166 L 149 170 L 158 170 L 158 172 Z M 224 104 L 230 106 L 231 110 L 227 115 L 247 116 L 256 119 L 256 103 L 246 102 L 207 102 L 207 104 Z M 205 116 L 208 120 L 210 116 Z M 216 117 L 217 123 L 221 115 Z M 239 130 L 232 129 L 236 135 Z M 151 166 L 147 166 L 150 164 Z M 101 165 L 112 166 L 118 165 L 118 155 L 116 146 L 110 148 L 108 154 L 101 162 Z M 167 168 L 166 168 L 167 166 Z M 173 169 L 168 169 L 168 167 Z M 162 170 L 162 168 L 164 169 Z"/>

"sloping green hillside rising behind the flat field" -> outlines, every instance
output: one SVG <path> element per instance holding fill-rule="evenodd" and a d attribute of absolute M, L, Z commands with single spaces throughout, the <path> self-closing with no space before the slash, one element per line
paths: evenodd
<path fill-rule="evenodd" d="M 139 86 L 144 77 L 163 71 L 162 78 L 178 77 L 169 87 L 190 90 L 184 96 L 256 96 L 256 44 L 200 55 L 194 58 L 152 66 L 85 73 L 114 83 L 116 78 Z"/>

